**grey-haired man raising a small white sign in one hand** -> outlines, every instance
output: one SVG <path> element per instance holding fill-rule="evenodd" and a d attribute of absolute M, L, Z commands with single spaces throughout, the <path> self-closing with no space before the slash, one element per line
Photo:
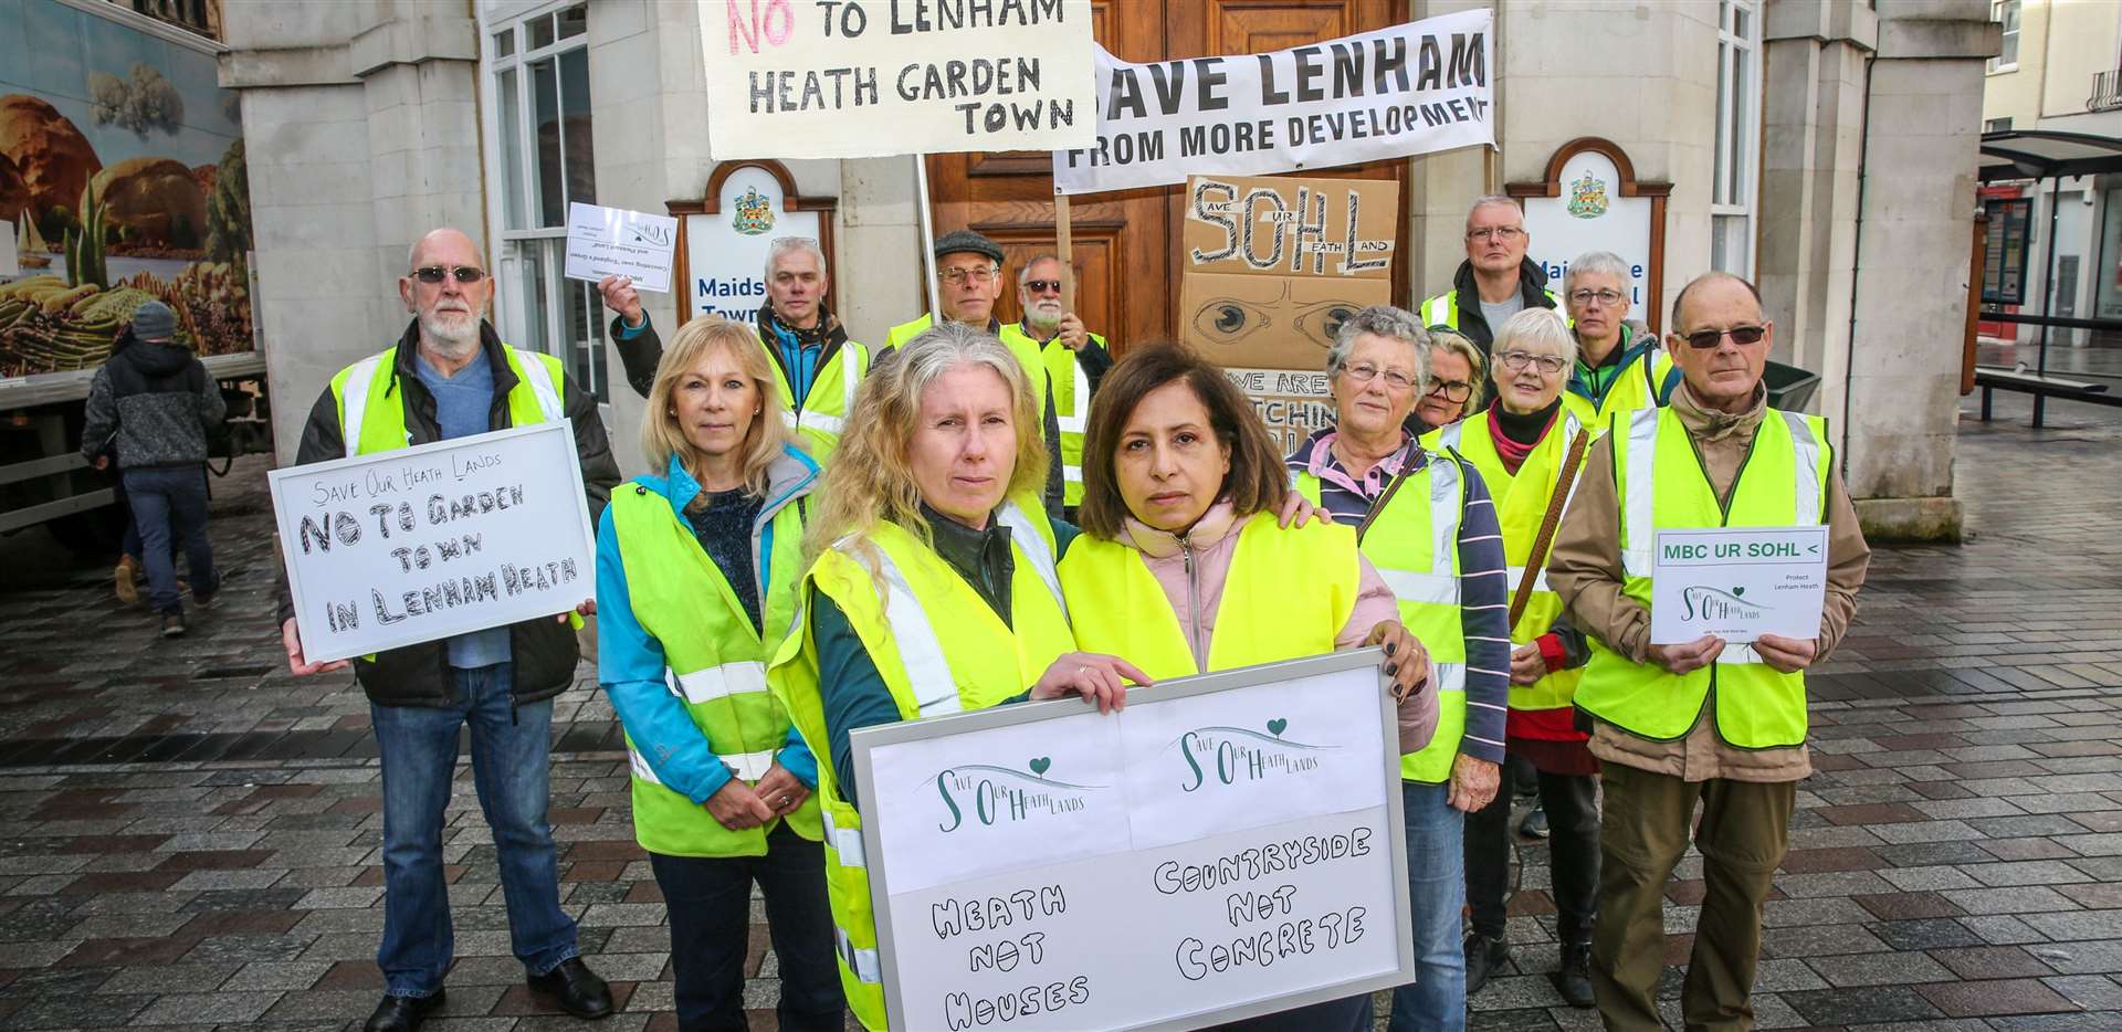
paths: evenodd
<path fill-rule="evenodd" d="M 783 236 L 766 246 L 766 304 L 751 316 L 753 331 L 775 372 L 781 374 L 781 423 L 819 461 L 840 442 L 840 427 L 855 410 L 855 386 L 889 352 L 849 340 L 840 316 L 825 308 L 825 251 L 808 236 Z M 611 340 L 620 344 L 626 382 L 649 395 L 662 338 L 641 310 L 641 295 L 626 276 L 605 276 L 596 289 L 611 319 Z"/>

